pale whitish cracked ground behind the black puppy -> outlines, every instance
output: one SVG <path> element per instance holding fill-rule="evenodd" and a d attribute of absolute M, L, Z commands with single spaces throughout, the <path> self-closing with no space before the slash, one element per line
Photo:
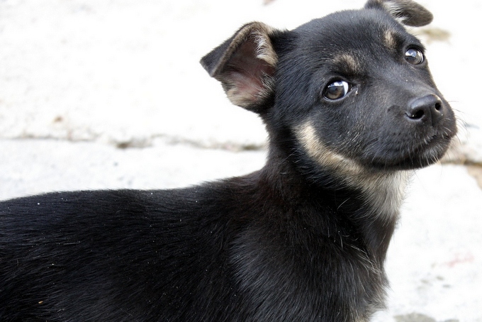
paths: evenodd
<path fill-rule="evenodd" d="M 291 29 L 364 3 L 0 0 L 0 199 L 259 169 L 261 121 L 198 61 L 249 21 Z M 389 306 L 374 321 L 482 321 L 482 2 L 419 3 L 435 20 L 410 31 L 427 45 L 459 138 L 414 176 L 388 254 Z"/>

